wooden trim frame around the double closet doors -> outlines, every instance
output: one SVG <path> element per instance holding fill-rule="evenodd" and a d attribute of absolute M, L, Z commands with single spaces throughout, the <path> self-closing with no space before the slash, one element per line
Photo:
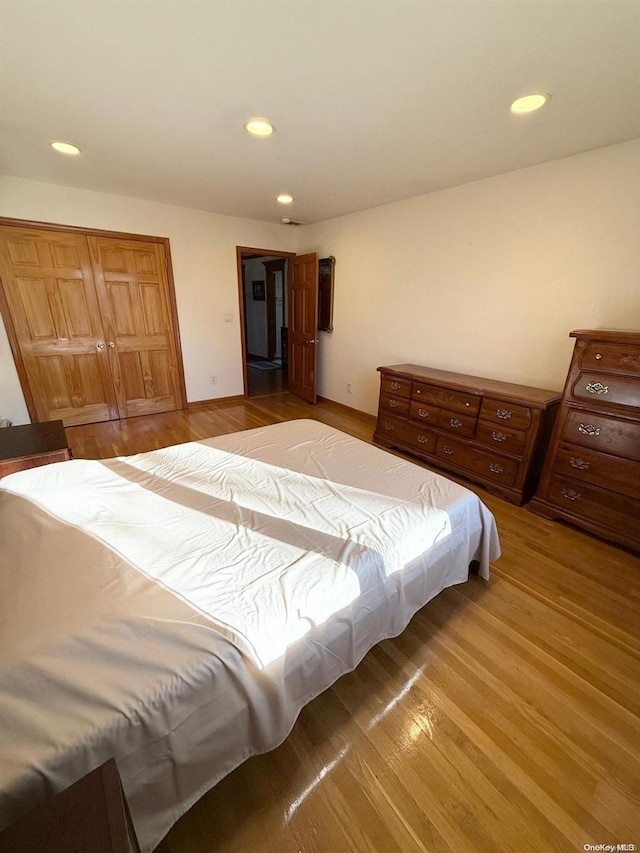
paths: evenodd
<path fill-rule="evenodd" d="M 13 228 L 34 228 L 38 231 L 66 231 L 75 234 L 83 234 L 87 237 L 116 237 L 120 240 L 138 240 L 146 243 L 160 243 L 164 248 L 164 256 L 166 259 L 166 276 L 167 276 L 167 291 L 169 297 L 169 318 L 171 320 L 171 334 L 176 351 L 178 361 L 178 394 L 180 397 L 181 408 L 187 407 L 187 388 L 184 379 L 184 364 L 182 361 L 182 345 L 180 343 L 180 327 L 178 324 L 178 305 L 176 302 L 175 284 L 173 278 L 173 264 L 171 261 L 171 247 L 168 237 L 152 237 L 149 234 L 130 234 L 126 231 L 107 231 L 101 228 L 83 228 L 80 225 L 61 225 L 57 222 L 39 222 L 31 219 L 13 219 L 11 217 L 0 216 L 0 225 L 5 225 Z M 18 336 L 13 325 L 13 320 L 9 312 L 9 303 L 7 301 L 4 284 L 0 277 L 0 314 L 4 320 L 9 346 L 16 365 L 20 387 L 24 394 L 24 401 L 27 406 L 29 418 L 32 423 L 38 420 L 35 401 L 31 393 L 31 387 L 27 378 L 27 371 L 22 360 L 22 353 Z"/>

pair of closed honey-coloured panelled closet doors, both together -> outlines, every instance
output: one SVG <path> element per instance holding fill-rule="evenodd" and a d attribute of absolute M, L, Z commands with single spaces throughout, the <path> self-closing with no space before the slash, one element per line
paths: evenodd
<path fill-rule="evenodd" d="M 32 420 L 184 406 L 163 242 L 0 225 L 0 278 Z"/>

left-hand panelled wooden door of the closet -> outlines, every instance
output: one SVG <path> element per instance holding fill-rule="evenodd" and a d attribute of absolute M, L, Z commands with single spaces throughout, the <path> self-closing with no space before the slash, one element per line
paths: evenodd
<path fill-rule="evenodd" d="M 86 237 L 0 226 L 0 276 L 32 415 L 65 426 L 116 418 Z"/>

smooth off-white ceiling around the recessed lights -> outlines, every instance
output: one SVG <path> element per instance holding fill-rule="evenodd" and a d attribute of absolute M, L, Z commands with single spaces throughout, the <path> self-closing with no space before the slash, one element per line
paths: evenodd
<path fill-rule="evenodd" d="M 640 0 L 2 0 L 0 36 L 0 173 L 250 219 L 640 137 Z"/>

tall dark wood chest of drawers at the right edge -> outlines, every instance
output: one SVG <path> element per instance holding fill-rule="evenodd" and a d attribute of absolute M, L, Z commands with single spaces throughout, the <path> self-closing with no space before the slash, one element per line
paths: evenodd
<path fill-rule="evenodd" d="M 560 414 L 529 508 L 640 550 L 640 332 L 571 337 Z"/>

